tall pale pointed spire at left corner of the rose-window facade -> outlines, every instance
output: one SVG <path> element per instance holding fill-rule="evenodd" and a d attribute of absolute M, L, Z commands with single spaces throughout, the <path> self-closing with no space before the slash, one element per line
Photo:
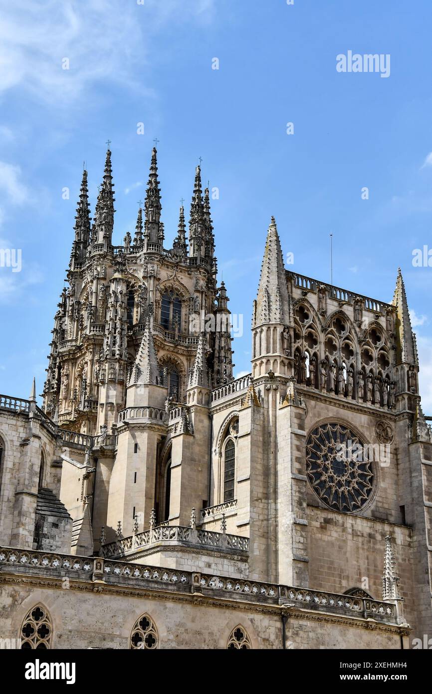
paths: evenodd
<path fill-rule="evenodd" d="M 288 323 L 289 299 L 286 288 L 284 257 L 275 217 L 268 227 L 266 248 L 261 264 L 258 297 L 254 305 L 253 325 Z"/>

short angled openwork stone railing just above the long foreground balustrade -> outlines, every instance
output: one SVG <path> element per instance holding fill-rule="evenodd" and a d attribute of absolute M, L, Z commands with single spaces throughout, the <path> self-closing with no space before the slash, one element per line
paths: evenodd
<path fill-rule="evenodd" d="M 101 557 L 121 557 L 126 552 L 145 548 L 155 543 L 179 543 L 200 545 L 212 550 L 236 550 L 236 552 L 249 551 L 249 538 L 237 535 L 229 535 L 223 532 L 197 530 L 196 528 L 182 525 L 156 525 L 150 530 L 137 532 L 135 535 L 123 537 L 114 542 L 101 545 L 99 553 Z"/>

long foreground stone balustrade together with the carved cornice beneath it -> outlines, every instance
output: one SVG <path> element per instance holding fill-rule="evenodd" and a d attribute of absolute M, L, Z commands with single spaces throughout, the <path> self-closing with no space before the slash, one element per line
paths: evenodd
<path fill-rule="evenodd" d="M 118 595 L 142 595 L 153 600 L 221 604 L 288 613 L 312 620 L 331 620 L 368 629 L 409 633 L 410 627 L 395 602 L 324 593 L 306 588 L 231 579 L 184 570 L 131 564 L 101 557 L 78 557 L 50 552 L 0 548 L 0 582 Z"/>

